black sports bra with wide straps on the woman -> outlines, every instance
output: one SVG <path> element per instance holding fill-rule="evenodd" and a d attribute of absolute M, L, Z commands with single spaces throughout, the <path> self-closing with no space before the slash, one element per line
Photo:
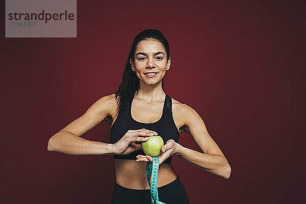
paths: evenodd
<path fill-rule="evenodd" d="M 111 127 L 110 137 L 112 144 L 118 142 L 128 130 L 138 130 L 143 128 L 157 132 L 158 135 L 163 138 L 164 144 L 166 144 L 169 139 L 173 139 L 175 142 L 179 142 L 180 132 L 177 130 L 173 120 L 171 97 L 166 94 L 162 117 L 158 121 L 151 123 L 138 122 L 132 118 L 132 102 L 129 104 L 129 106 L 127 106 L 126 110 L 120 111 L 118 113 L 118 116 Z M 113 155 L 113 157 L 114 159 L 136 160 L 137 155 L 145 154 L 142 149 L 139 149 L 129 155 Z M 172 155 L 166 159 L 164 163 L 171 163 L 171 159 Z"/>

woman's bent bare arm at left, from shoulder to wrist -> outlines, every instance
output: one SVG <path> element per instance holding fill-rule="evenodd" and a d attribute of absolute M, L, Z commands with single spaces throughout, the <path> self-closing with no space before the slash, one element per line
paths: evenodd
<path fill-rule="evenodd" d="M 115 94 L 101 97 L 79 118 L 53 135 L 47 144 L 48 151 L 67 155 L 115 155 L 113 144 L 81 138 L 97 124 L 106 121 L 116 103 Z"/>

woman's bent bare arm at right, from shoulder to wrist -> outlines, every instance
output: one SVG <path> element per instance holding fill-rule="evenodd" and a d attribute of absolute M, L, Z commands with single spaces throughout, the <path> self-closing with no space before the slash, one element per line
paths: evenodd
<path fill-rule="evenodd" d="M 228 164 L 222 151 L 208 134 L 206 125 L 199 114 L 187 105 L 183 105 L 184 132 L 188 133 L 203 153 L 177 144 L 174 155 L 184 159 L 200 169 L 228 179 L 231 175 L 231 166 Z"/>

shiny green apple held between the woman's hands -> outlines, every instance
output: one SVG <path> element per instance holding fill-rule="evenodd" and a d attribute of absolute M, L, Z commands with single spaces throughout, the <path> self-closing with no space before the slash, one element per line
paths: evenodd
<path fill-rule="evenodd" d="M 161 136 L 150 136 L 145 142 L 141 142 L 141 146 L 144 154 L 151 157 L 158 157 L 162 154 L 162 146 L 164 145 L 164 140 Z"/>

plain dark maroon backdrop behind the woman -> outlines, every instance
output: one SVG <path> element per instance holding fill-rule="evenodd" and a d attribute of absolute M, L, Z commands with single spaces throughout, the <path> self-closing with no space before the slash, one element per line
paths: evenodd
<path fill-rule="evenodd" d="M 195 109 L 229 180 L 180 158 L 194 203 L 294 203 L 304 193 L 302 1 L 78 1 L 77 38 L 5 38 L 1 4 L 2 203 L 110 203 L 112 156 L 47 151 L 48 139 L 114 93 L 144 29 L 170 44 L 166 92 Z M 110 143 L 100 123 L 83 137 Z M 200 150 L 188 134 L 180 144 Z"/>

